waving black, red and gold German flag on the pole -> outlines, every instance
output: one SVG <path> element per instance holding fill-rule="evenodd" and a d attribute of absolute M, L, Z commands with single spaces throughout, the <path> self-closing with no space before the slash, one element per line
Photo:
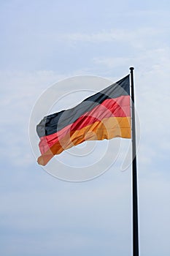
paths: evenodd
<path fill-rule="evenodd" d="M 131 138 L 129 75 L 74 108 L 45 116 L 36 132 L 42 154 L 39 165 L 85 140 Z"/>

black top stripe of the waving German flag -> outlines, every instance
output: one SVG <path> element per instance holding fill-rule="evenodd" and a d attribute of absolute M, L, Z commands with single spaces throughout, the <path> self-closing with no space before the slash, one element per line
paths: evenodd
<path fill-rule="evenodd" d="M 51 135 L 60 131 L 67 125 L 73 124 L 77 118 L 80 118 L 80 116 L 104 102 L 104 100 L 126 95 L 130 95 L 129 75 L 97 94 L 84 99 L 74 108 L 45 116 L 36 126 L 36 132 L 39 135 L 39 138 L 44 137 L 45 135 Z"/>

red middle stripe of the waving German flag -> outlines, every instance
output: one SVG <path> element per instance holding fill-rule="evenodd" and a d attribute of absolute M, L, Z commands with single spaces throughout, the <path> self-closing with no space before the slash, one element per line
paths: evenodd
<path fill-rule="evenodd" d="M 82 129 L 83 127 L 93 124 L 96 121 L 102 121 L 103 118 L 131 116 L 130 113 L 130 96 L 121 96 L 116 99 L 106 99 L 93 110 L 85 113 L 73 124 L 69 124 L 52 135 L 40 138 L 39 149 L 42 154 L 50 149 L 55 143 L 63 138 L 68 132 Z"/>

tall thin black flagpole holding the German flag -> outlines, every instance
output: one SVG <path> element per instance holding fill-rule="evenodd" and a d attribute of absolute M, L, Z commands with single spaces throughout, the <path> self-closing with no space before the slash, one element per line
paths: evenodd
<path fill-rule="evenodd" d="M 138 195 L 136 167 L 136 129 L 134 111 L 134 67 L 131 70 L 131 129 L 132 129 L 132 201 L 133 201 L 133 256 L 139 256 Z"/>

